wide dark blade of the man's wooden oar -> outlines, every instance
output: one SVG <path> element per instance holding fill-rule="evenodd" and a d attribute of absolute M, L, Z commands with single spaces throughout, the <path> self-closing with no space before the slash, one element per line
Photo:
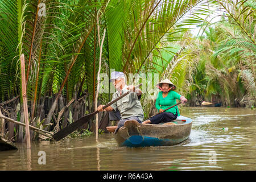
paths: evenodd
<path fill-rule="evenodd" d="M 96 114 L 95 112 L 87 114 L 84 117 L 78 119 L 77 121 L 71 123 L 71 125 L 64 127 L 64 129 L 52 135 L 53 139 L 55 139 L 56 141 L 59 141 L 60 139 L 67 137 L 67 135 L 71 134 L 73 131 L 77 130 L 79 127 L 87 123 L 90 120 L 90 118 L 92 118 L 95 114 Z"/>

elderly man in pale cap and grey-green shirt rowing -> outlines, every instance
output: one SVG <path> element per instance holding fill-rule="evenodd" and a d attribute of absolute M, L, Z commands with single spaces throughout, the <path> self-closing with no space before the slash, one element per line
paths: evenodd
<path fill-rule="evenodd" d="M 98 106 L 98 111 L 119 111 L 121 114 L 121 119 L 118 122 L 117 126 L 109 126 L 107 130 L 110 132 L 117 133 L 120 127 L 122 127 L 127 120 L 136 120 L 139 123 L 143 121 L 144 114 L 141 106 L 141 102 L 138 99 L 138 96 L 141 96 L 141 89 L 135 89 L 135 86 L 127 86 L 125 83 L 125 75 L 123 72 L 112 72 L 110 81 L 113 82 L 113 85 L 117 92 L 113 94 L 112 101 L 115 98 L 120 97 L 126 92 L 130 92 L 127 96 L 123 97 L 121 100 L 118 100 L 114 104 L 106 107 L 105 110 L 102 109 L 104 105 Z"/>

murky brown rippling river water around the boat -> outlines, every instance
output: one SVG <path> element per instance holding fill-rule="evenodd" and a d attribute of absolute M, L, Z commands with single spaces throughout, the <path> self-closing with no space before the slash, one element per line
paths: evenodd
<path fill-rule="evenodd" d="M 183 107 L 193 119 L 190 137 L 170 147 L 118 147 L 113 134 L 19 143 L 0 152 L 0 170 L 255 170 L 256 111 L 241 108 Z M 222 128 L 228 127 L 228 131 Z M 38 152 L 46 152 L 46 164 Z M 216 163 L 210 163 L 216 154 Z"/>

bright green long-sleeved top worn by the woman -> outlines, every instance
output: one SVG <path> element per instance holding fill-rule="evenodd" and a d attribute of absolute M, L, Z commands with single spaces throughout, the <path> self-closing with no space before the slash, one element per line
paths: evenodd
<path fill-rule="evenodd" d="M 160 109 L 167 109 L 168 107 L 177 104 L 176 99 L 180 100 L 180 97 L 180 94 L 171 90 L 170 92 L 168 92 L 168 95 L 163 98 L 163 92 L 161 91 L 158 93 L 158 98 L 156 98 L 155 107 L 156 109 L 158 109 L 158 111 Z M 175 108 L 177 109 L 177 116 L 180 116 L 179 109 L 177 106 L 172 107 L 171 109 L 168 109 L 165 112 L 176 114 Z"/>

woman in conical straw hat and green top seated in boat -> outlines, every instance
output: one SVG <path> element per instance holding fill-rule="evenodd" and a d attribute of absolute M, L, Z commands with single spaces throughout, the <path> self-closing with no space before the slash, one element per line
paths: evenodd
<path fill-rule="evenodd" d="M 144 121 L 144 124 L 158 124 L 160 122 L 170 122 L 176 119 L 180 115 L 177 106 L 172 107 L 171 109 L 168 109 L 166 111 L 163 110 L 177 104 L 176 99 L 180 100 L 182 104 L 185 104 L 187 102 L 187 99 L 184 96 L 181 96 L 174 91 L 176 89 L 176 86 L 170 80 L 165 79 L 159 82 L 159 84 L 156 86 L 161 90 L 158 93 L 158 97 L 156 98 L 155 102 L 155 107 L 156 109 L 158 109 L 160 114 L 155 115 L 154 117 L 150 118 L 150 120 Z"/>

